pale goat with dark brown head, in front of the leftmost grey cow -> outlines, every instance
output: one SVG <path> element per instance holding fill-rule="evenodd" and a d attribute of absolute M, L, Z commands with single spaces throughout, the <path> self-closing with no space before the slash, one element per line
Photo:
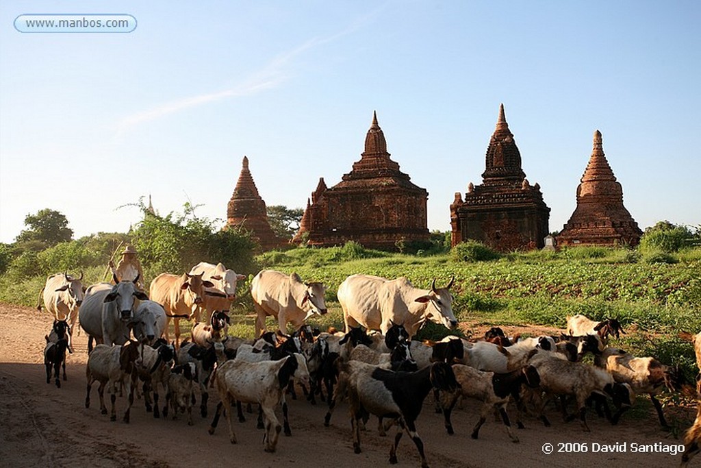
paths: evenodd
<path fill-rule="evenodd" d="M 100 382 L 97 393 L 100 395 L 100 411 L 107 414 L 107 407 L 104 406 L 104 386 L 109 383 L 111 413 L 109 419 L 116 421 L 117 415 L 114 409 L 114 402 L 117 399 L 117 384 L 124 384 L 129 395 L 129 406 L 124 412 L 124 422 L 129 422 L 129 413 L 134 403 L 134 389 L 136 387 L 135 361 L 139 357 L 139 347 L 137 342 L 127 342 L 125 345 L 97 345 L 90 356 L 88 356 L 88 366 L 86 366 L 86 377 L 88 380 L 88 391 L 86 393 L 86 408 L 90 408 L 90 389 L 93 382 Z"/>

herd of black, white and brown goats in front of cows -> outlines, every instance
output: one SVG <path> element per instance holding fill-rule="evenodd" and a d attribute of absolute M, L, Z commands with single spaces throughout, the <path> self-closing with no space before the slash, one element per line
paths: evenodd
<path fill-rule="evenodd" d="M 421 342 L 410 340 L 404 326 L 392 323 L 385 335 L 368 333 L 363 327 L 349 327 L 347 333 L 320 332 L 304 324 L 292 335 L 278 330 L 264 333 L 257 340 L 245 340 L 229 335 L 226 311 L 215 311 L 209 321 L 196 323 L 191 337 L 175 347 L 161 337 L 164 330 L 158 322 L 165 319 L 158 311 L 144 307 L 140 314 L 141 319 L 132 321 L 135 339 L 123 345 L 90 345 L 86 408 L 90 407 L 91 387 L 99 382 L 100 410 L 108 412 L 104 402 L 107 388 L 113 421 L 117 417 L 117 395 L 126 395 L 123 421 L 129 422 L 135 394 L 142 392 L 147 411 L 152 411 L 154 417 L 186 413 L 191 425 L 196 395 L 200 396 L 200 415 L 207 417 L 208 392 L 213 387 L 219 402 L 210 434 L 214 434 L 223 411 L 231 443 L 236 443 L 233 405 L 240 422 L 245 420 L 242 405 L 257 405 L 266 452 L 275 451 L 281 431 L 291 434 L 286 395 L 297 398 L 295 383 L 311 403 L 316 403 L 317 396 L 327 401 L 325 426 L 336 402 L 348 401 L 355 453 L 361 451 L 360 429 L 370 415 L 376 415 L 379 434 L 385 435 L 393 425 L 397 427 L 390 463 L 397 462 L 397 445 L 406 432 L 416 445 L 422 467 L 428 462 L 416 432 L 416 419 L 430 393 L 435 410 L 444 415 L 448 434 L 454 434 L 451 411 L 461 398 L 469 398 L 482 402 L 472 429 L 473 439 L 494 413 L 501 417 L 510 440 L 518 442 L 508 415 L 510 402 L 515 403 L 519 428 L 524 427 L 526 414 L 535 415 L 549 426 L 544 408 L 557 397 L 564 420 L 578 417 L 582 429 L 589 431 L 587 406 L 594 406 L 599 415 L 616 424 L 635 396 L 648 394 L 660 424 L 666 427 L 662 405 L 655 396 L 665 388 L 686 392 L 690 388 L 677 368 L 608 347 L 610 335 L 618 338 L 625 333 L 615 319 L 597 322 L 581 315 L 569 317 L 566 333 L 559 337 L 508 337 L 495 327 L 480 340 L 448 336 L 440 342 Z M 149 324 L 156 326 L 155 333 L 152 327 L 151 331 L 139 328 L 139 323 L 145 321 L 153 322 Z M 61 369 L 66 380 L 66 354 L 73 352 L 71 336 L 66 320 L 55 320 L 46 335 L 46 382 L 50 383 L 53 376 L 57 387 L 61 385 Z M 694 341 L 701 372 L 701 333 L 688 339 Z M 586 354 L 593 355 L 594 365 L 582 362 Z M 163 406 L 159 392 L 165 394 Z M 693 392 L 700 395 L 700 389 Z M 575 413 L 570 414 L 572 401 Z M 275 414 L 280 406 L 282 424 Z M 700 450 L 699 441 L 701 403 L 686 435 L 683 466 Z"/>

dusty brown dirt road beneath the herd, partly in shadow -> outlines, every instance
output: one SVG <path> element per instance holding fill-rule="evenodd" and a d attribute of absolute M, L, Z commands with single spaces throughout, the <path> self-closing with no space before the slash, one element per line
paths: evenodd
<path fill-rule="evenodd" d="M 97 385 L 93 388 L 93 405 L 86 409 L 85 364 L 86 337 L 74 340 L 76 353 L 68 356 L 68 380 L 60 389 L 53 381 L 46 384 L 43 368 L 43 336 L 51 320 L 46 312 L 28 307 L 0 305 L 0 466 L 4 467 L 199 467 L 233 462 L 235 466 L 287 467 L 326 464 L 334 467 L 388 466 L 393 437 L 380 437 L 368 424 L 361 434 L 363 452 L 353 453 L 350 422 L 346 406 L 341 404 L 331 427 L 324 427 L 325 407 L 306 401 L 292 401 L 290 417 L 292 436 L 280 436 L 278 451 L 264 453 L 262 433 L 255 429 L 254 417 L 235 430 L 238 445 L 229 443 L 226 424 L 215 435 L 207 434 L 210 419 L 197 413 L 195 424 L 186 420 L 156 420 L 146 413 L 143 402 L 132 407 L 131 422 L 121 422 L 125 399 L 117 400 L 118 422 L 101 415 Z M 210 401 L 210 415 L 217 401 Z M 613 427 L 590 415 L 592 432 L 585 433 L 578 422 L 566 424 L 552 411 L 552 427 L 526 420 L 526 429 L 517 432 L 520 443 L 511 443 L 501 424 L 489 420 L 482 427 L 479 440 L 470 439 L 477 419 L 477 406 L 468 403 L 454 412 L 456 435 L 448 436 L 442 416 L 433 413 L 431 396 L 418 419 L 418 433 L 426 446 L 428 462 L 434 467 L 666 467 L 679 464 L 681 455 L 667 453 L 633 453 L 632 445 L 679 444 L 679 439 L 658 426 L 654 410 L 635 417 L 623 417 Z M 108 400 L 109 405 L 109 400 Z M 648 414 L 649 413 L 649 414 Z M 687 414 L 688 413 L 688 414 Z M 681 410 L 681 419 L 693 419 L 693 410 Z M 223 421 L 223 420 L 222 420 Z M 679 427 L 683 430 L 686 427 Z M 545 455 L 543 445 L 551 443 L 555 453 Z M 557 453 L 560 443 L 579 443 L 587 453 Z M 624 453 L 594 453 L 595 444 L 626 443 Z M 574 448 L 573 446 L 565 446 Z M 623 448 L 622 445 L 618 446 Z M 420 466 L 416 448 L 404 436 L 398 450 L 400 467 Z M 701 464 L 701 460 L 693 460 Z"/>

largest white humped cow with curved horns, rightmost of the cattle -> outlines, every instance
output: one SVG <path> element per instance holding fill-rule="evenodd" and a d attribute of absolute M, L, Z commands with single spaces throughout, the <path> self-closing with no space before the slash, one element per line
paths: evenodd
<path fill-rule="evenodd" d="M 414 288 L 403 276 L 392 280 L 367 274 L 348 276 L 338 292 L 346 333 L 362 325 L 386 335 L 392 324 L 397 323 L 407 329 L 411 339 L 426 320 L 455 328 L 458 321 L 449 291 L 453 281 L 445 288 L 436 288 L 434 279 L 426 290 Z"/>

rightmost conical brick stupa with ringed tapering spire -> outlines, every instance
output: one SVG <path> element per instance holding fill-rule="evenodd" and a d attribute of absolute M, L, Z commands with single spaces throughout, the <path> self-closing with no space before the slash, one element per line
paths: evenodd
<path fill-rule="evenodd" d="M 577 187 L 577 208 L 557 236 L 557 245 L 637 246 L 642 234 L 623 206 L 623 188 L 608 166 L 597 130 L 592 157 Z"/>

